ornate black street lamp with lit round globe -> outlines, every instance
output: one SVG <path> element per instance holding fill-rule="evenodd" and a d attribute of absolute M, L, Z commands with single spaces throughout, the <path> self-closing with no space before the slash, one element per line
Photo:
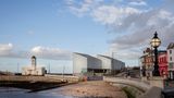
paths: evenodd
<path fill-rule="evenodd" d="M 160 76 L 159 65 L 158 65 L 158 47 L 161 45 L 161 40 L 158 37 L 157 32 L 154 33 L 154 36 L 151 39 L 150 45 L 154 48 L 154 70 L 153 70 L 153 76 Z"/>

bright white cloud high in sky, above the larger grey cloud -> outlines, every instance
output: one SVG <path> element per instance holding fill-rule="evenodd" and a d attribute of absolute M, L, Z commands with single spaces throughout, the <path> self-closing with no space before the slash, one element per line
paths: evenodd
<path fill-rule="evenodd" d="M 95 9 L 91 16 L 102 24 L 122 25 L 122 21 L 130 14 L 140 13 L 134 8 L 116 8 L 114 5 L 101 5 Z"/>

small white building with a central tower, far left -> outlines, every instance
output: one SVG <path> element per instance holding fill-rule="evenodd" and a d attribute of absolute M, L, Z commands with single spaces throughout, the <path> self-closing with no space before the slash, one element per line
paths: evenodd
<path fill-rule="evenodd" d="M 22 75 L 45 75 L 46 70 L 42 66 L 36 66 L 36 57 L 32 57 L 32 65 L 22 68 Z"/>

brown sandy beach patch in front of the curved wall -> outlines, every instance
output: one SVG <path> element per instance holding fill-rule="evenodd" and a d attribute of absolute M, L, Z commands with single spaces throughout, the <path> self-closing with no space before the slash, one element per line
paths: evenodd
<path fill-rule="evenodd" d="M 57 94 L 80 98 L 127 98 L 120 88 L 102 81 L 83 82 L 53 90 Z"/>

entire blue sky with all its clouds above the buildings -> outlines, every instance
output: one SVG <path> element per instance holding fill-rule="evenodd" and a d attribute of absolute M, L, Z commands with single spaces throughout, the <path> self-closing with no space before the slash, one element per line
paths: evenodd
<path fill-rule="evenodd" d="M 36 56 L 72 73 L 72 53 L 105 54 L 138 65 L 158 32 L 174 41 L 174 0 L 0 0 L 0 70 L 21 72 Z"/>

